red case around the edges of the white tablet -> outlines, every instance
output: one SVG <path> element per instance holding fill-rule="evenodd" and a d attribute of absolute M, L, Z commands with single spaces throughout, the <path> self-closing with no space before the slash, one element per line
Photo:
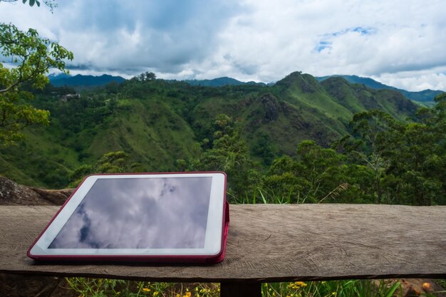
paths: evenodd
<path fill-rule="evenodd" d="M 46 225 L 45 229 L 41 231 L 38 237 L 33 241 L 29 247 L 26 255 L 31 259 L 38 261 L 113 261 L 113 262 L 147 262 L 147 263 L 189 263 L 189 264 L 214 264 L 223 261 L 226 251 L 227 234 L 229 230 L 229 203 L 226 201 L 227 175 L 224 172 L 150 172 L 150 173 L 117 173 L 123 174 L 196 174 L 196 173 L 222 173 L 224 174 L 224 207 L 223 207 L 223 224 L 222 224 L 222 248 L 220 252 L 215 255 L 33 255 L 31 249 L 34 244 L 41 238 L 42 234 L 48 229 L 53 220 L 58 216 L 59 212 L 65 207 L 68 201 L 73 197 L 73 194 L 81 187 L 81 184 L 76 187 L 73 193 L 66 199 L 61 209 L 56 212 L 51 221 Z M 114 175 L 114 174 L 92 174 L 92 175 Z M 86 179 L 86 177 L 85 177 Z M 84 179 L 84 180 L 85 180 Z"/>

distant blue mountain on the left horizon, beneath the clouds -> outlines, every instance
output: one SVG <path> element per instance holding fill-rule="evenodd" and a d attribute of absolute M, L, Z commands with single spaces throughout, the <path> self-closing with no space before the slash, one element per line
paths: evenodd
<path fill-rule="evenodd" d="M 58 74 L 58 75 L 49 75 L 50 83 L 56 87 L 62 87 L 64 85 L 68 87 L 98 87 L 100 85 L 107 85 L 115 81 L 116 83 L 122 83 L 125 78 L 120 76 L 112 76 L 108 74 L 103 74 L 100 76 L 93 75 L 67 75 L 67 74 Z"/>

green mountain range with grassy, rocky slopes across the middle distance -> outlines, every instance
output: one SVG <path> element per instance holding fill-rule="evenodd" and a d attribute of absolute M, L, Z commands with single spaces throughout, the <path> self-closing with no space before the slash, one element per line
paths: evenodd
<path fill-rule="evenodd" d="M 75 170 L 107 152 L 122 150 L 142 172 L 176 171 L 176 160 L 196 156 L 197 142 L 214 137 L 214 119 L 237 120 L 251 157 L 294 155 L 303 140 L 327 147 L 348 135 L 355 113 L 380 109 L 405 121 L 418 105 L 397 90 L 375 90 L 341 77 L 318 82 L 294 72 L 275 85 L 219 88 L 167 80 L 125 80 L 116 88 L 65 88 L 36 93 L 36 108 L 51 112 L 51 125 L 28 127 L 15 147 L 0 148 L 0 175 L 21 184 L 66 187 Z"/>

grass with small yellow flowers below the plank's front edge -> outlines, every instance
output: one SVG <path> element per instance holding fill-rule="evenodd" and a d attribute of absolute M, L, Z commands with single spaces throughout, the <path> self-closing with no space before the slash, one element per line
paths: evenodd
<path fill-rule="evenodd" d="M 82 297 L 218 297 L 219 283 L 164 283 L 107 278 L 67 278 Z M 263 297 L 392 297 L 400 296 L 398 281 L 294 281 L 263 283 Z"/>

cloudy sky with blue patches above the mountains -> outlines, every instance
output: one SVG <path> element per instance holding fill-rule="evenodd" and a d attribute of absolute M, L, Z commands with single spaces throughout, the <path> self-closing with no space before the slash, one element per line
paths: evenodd
<path fill-rule="evenodd" d="M 74 53 L 72 74 L 355 74 L 406 90 L 446 90 L 444 0 L 58 0 L 0 2 L 0 21 Z"/>

